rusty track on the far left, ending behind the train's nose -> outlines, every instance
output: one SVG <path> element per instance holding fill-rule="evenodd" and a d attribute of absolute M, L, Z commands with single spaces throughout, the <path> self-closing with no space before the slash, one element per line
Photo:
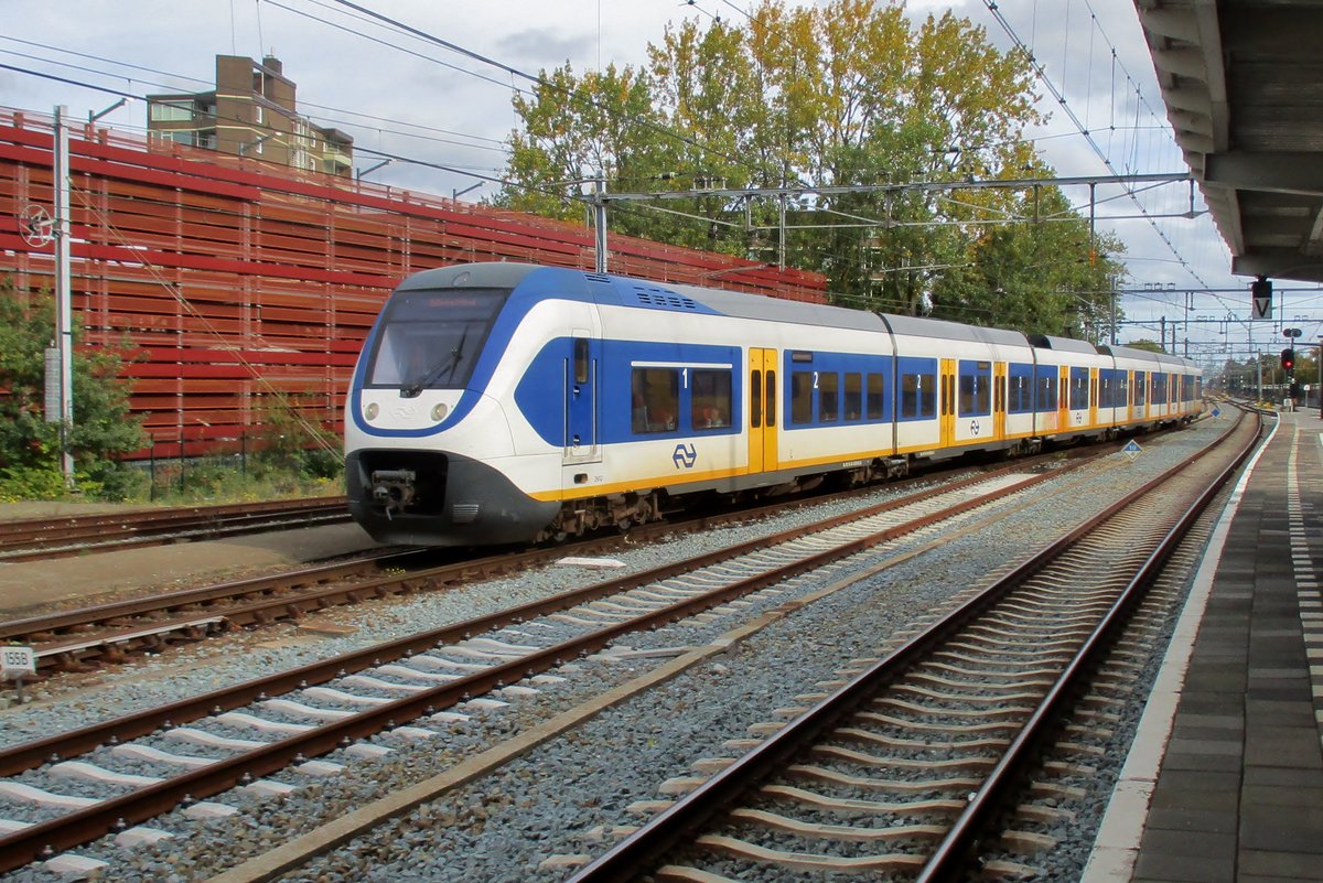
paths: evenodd
<path fill-rule="evenodd" d="M 344 497 L 0 522 L 0 562 L 41 560 L 349 521 Z"/>

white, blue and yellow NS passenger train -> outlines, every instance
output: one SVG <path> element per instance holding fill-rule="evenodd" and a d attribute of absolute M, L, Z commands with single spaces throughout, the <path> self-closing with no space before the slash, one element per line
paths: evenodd
<path fill-rule="evenodd" d="M 1191 361 L 523 263 L 406 278 L 345 401 L 351 513 L 382 543 L 627 530 L 700 500 L 1189 422 Z"/>

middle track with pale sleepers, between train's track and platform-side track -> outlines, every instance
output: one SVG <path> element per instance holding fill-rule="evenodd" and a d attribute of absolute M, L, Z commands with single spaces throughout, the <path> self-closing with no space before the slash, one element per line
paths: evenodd
<path fill-rule="evenodd" d="M 0 829 L 12 831 L 0 837 L 0 871 L 124 831 L 180 805 L 189 806 L 185 812 L 233 812 L 205 800 L 233 788 L 287 793 L 292 785 L 271 779 L 274 773 L 333 775 L 356 751 L 380 755 L 380 744 L 361 742 L 374 734 L 427 738 L 456 719 L 456 706 L 483 701 L 492 691 L 553 683 L 558 678 L 549 670 L 631 633 L 705 611 L 746 616 L 750 599 L 775 597 L 782 592 L 778 586 L 796 574 L 832 567 L 1061 479 L 1062 472 L 1027 476 L 1005 469 L 971 477 L 937 493 L 910 494 L 863 513 L 3 751 L 0 775 L 7 780 L 0 781 L 0 793 L 25 801 L 29 813 L 0 822 Z M 239 738 L 238 731 L 246 735 Z M 308 760 L 329 752 L 339 752 L 336 763 Z M 115 773 L 126 757 L 155 763 L 159 772 Z M 101 783 L 108 793 L 70 802 L 77 794 L 60 787 L 69 779 Z"/>

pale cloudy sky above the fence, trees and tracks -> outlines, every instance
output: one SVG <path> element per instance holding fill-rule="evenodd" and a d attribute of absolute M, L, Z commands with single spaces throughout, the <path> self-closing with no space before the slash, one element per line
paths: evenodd
<path fill-rule="evenodd" d="M 474 176 L 500 176 L 503 143 L 517 126 L 512 86 L 528 87 L 523 74 L 565 62 L 577 73 L 642 66 L 668 22 L 742 20 L 747 8 L 745 0 L 353 4 L 496 63 L 382 28 L 343 0 L 0 0 L 0 65 L 83 83 L 0 67 L 0 106 L 50 112 L 64 104 L 73 118 L 87 119 L 115 103 L 114 91 L 208 90 L 217 54 L 275 54 L 298 83 L 300 112 L 319 124 L 351 134 L 359 148 L 470 173 L 393 163 L 366 172 L 368 180 L 443 196 L 480 185 L 460 196 L 480 200 L 496 188 Z M 950 9 L 986 28 L 995 45 L 1020 44 L 1033 53 L 1044 73 L 1040 110 L 1049 120 L 1031 135 L 1058 176 L 1188 171 L 1132 0 L 910 0 L 905 8 L 912 19 Z M 142 132 L 146 103 L 128 102 L 101 122 Z M 365 152 L 355 160 L 359 169 L 374 164 Z M 1188 340 L 1192 358 L 1220 365 L 1228 354 L 1244 358 L 1250 348 L 1281 346 L 1281 320 L 1302 328 L 1304 340 L 1323 333 L 1323 291 L 1303 283 L 1277 284 L 1278 321 L 1249 321 L 1249 279 L 1230 274 L 1230 252 L 1211 217 L 1184 217 L 1192 200 L 1195 211 L 1204 210 L 1197 189 L 1131 186 L 1135 197 L 1099 185 L 1094 209 L 1098 229 L 1117 233 L 1127 249 L 1127 276 L 1118 287 L 1129 323 L 1119 342 L 1156 340 L 1164 317 L 1168 344 L 1177 328 L 1177 353 Z M 1066 194 L 1089 214 L 1088 188 Z"/>

